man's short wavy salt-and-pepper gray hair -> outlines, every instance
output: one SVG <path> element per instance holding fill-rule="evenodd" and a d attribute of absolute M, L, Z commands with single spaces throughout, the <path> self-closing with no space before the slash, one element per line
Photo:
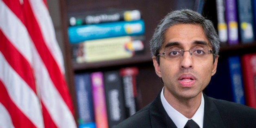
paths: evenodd
<path fill-rule="evenodd" d="M 159 51 L 165 41 L 164 34 L 170 26 L 175 24 L 197 24 L 203 27 L 206 38 L 210 42 L 213 51 L 214 61 L 218 57 L 218 52 L 220 48 L 220 41 L 212 21 L 205 19 L 201 14 L 196 11 L 189 9 L 172 11 L 166 15 L 166 17 L 161 20 L 155 29 L 154 35 L 150 40 L 150 52 L 151 55 L 157 57 L 157 62 L 159 63 Z"/>

